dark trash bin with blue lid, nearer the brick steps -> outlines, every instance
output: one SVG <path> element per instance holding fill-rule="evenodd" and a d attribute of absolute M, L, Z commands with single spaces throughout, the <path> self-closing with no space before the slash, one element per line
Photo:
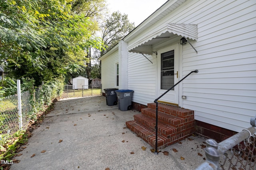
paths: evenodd
<path fill-rule="evenodd" d="M 118 98 L 118 109 L 127 111 L 132 108 L 132 94 L 133 90 L 116 90 Z"/>

